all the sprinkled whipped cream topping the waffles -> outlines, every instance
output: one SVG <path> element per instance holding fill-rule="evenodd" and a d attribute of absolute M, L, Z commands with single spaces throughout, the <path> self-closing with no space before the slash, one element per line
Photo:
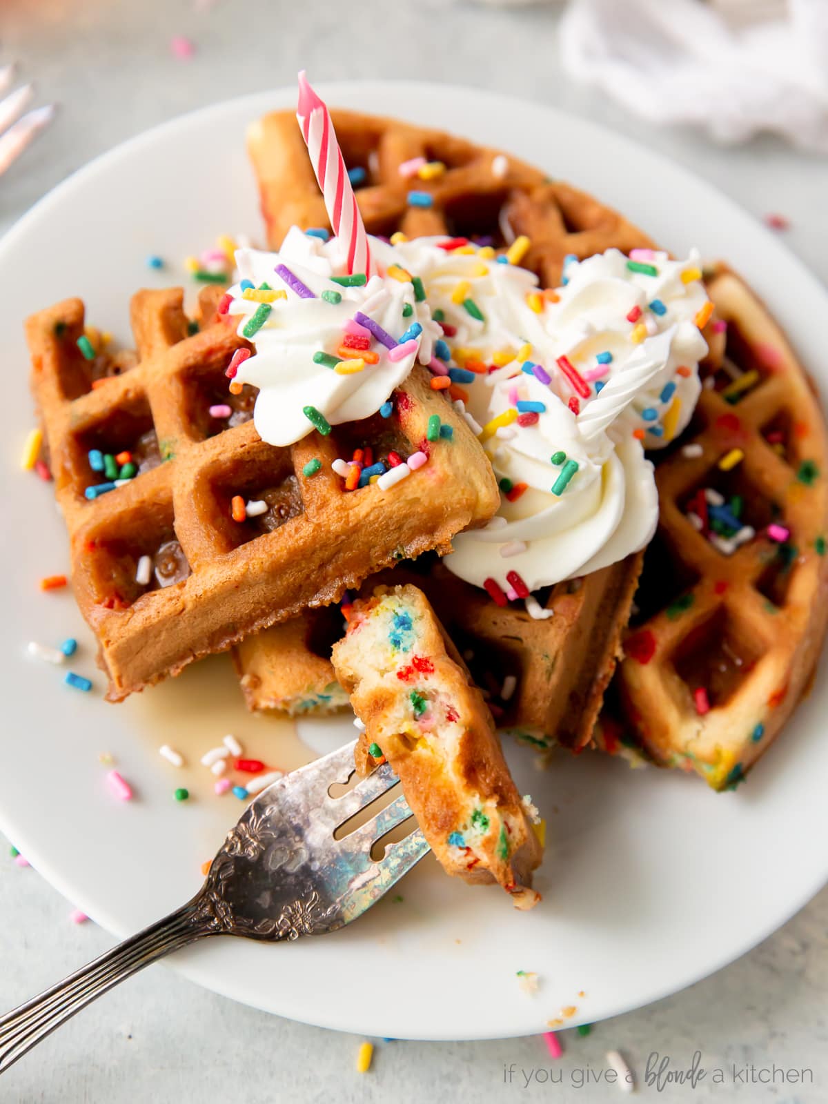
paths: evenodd
<path fill-rule="evenodd" d="M 445 243 L 371 238 L 380 275 L 362 287 L 332 279 L 344 272 L 336 240 L 296 227 L 279 253 L 236 254 L 230 311 L 243 316 L 241 335 L 259 308 L 252 293 L 265 284 L 287 296 L 270 304 L 236 376 L 259 389 L 259 435 L 298 440 L 312 428 L 309 406 L 331 424 L 369 417 L 418 360 L 465 390 L 456 405 L 502 491 L 485 529 L 455 538 L 445 560 L 455 574 L 477 586 L 493 581 L 516 598 L 644 548 L 658 520 L 645 448 L 681 433 L 700 391 L 710 308 L 698 255 L 569 258 L 563 286 L 541 291 L 532 273 L 493 250 Z M 372 335 L 370 362 L 340 374 L 333 365 L 346 353 L 360 358 L 343 339 L 359 337 L 354 318 L 365 317 L 384 339 Z"/>

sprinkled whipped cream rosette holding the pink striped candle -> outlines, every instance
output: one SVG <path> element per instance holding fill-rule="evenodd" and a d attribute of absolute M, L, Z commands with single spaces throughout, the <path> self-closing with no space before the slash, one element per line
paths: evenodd
<path fill-rule="evenodd" d="M 317 415 L 337 425 L 375 414 L 442 337 L 411 280 L 343 275 L 336 238 L 294 227 L 278 253 L 240 250 L 236 266 L 227 312 L 255 352 L 234 380 L 258 388 L 254 422 L 270 445 L 299 440 Z"/>

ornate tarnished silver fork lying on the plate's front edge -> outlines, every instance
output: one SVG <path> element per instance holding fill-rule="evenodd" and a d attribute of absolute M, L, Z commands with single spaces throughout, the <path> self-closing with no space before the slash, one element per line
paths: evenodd
<path fill-rule="evenodd" d="M 0 1073 L 107 989 L 209 935 L 298 940 L 357 920 L 428 851 L 420 828 L 383 858 L 372 846 L 412 814 L 396 797 L 340 840 L 333 832 L 399 783 L 388 764 L 341 797 L 354 742 L 273 783 L 253 800 L 215 856 L 195 896 L 64 981 L 0 1018 Z"/>

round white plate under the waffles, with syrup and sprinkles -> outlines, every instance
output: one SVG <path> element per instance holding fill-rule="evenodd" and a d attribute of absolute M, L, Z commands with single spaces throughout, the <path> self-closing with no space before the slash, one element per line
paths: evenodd
<path fill-rule="evenodd" d="M 597 126 L 551 108 L 482 92 L 420 84 L 331 85 L 328 103 L 381 109 L 512 150 L 624 211 L 676 253 L 698 245 L 724 257 L 769 302 L 809 370 L 825 381 L 828 296 L 813 276 L 732 202 L 683 169 Z M 92 636 L 67 591 L 41 576 L 67 570 L 63 524 L 47 485 L 19 470 L 32 424 L 21 322 L 79 295 L 88 319 L 129 339 L 130 294 L 192 283 L 183 258 L 220 233 L 261 237 L 247 123 L 289 107 L 295 89 L 198 112 L 119 146 L 40 202 L 0 243 L 0 342 L 6 432 L 4 578 L 0 623 L 3 737 L 0 826 L 50 882 L 115 935 L 171 911 L 200 884 L 242 806 L 216 797 L 200 754 L 234 731 L 248 752 L 295 763 L 291 726 L 248 716 L 226 657 L 197 665 L 124 705 L 102 700 Z M 612 166 L 612 172 L 606 167 Z M 149 254 L 167 258 L 151 272 Z M 74 635 L 71 666 L 24 658 L 28 640 Z M 828 879 L 828 692 L 810 698 L 736 793 L 694 777 L 630 771 L 597 754 L 561 755 L 548 773 L 510 749 L 522 792 L 549 824 L 538 877 L 543 903 L 523 914 L 495 888 L 445 878 L 428 857 L 385 900 L 331 936 L 293 945 L 210 941 L 173 968 L 217 992 L 329 1028 L 375 1036 L 478 1039 L 544 1030 L 623 1012 L 718 969 L 796 912 Z M 305 739 L 350 739 L 348 720 L 305 722 Z M 176 771 L 158 755 L 180 746 Z M 118 802 L 98 762 L 110 753 L 135 786 Z M 306 753 L 307 754 L 307 753 Z M 192 798 L 173 800 L 176 786 Z M 530 997 L 517 970 L 540 975 Z"/>

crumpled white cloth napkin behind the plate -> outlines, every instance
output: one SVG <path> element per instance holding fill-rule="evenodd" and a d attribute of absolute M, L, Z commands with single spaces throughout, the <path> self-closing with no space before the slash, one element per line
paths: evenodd
<path fill-rule="evenodd" d="M 701 126 L 723 142 L 773 130 L 828 153 L 828 0 L 787 0 L 760 22 L 745 21 L 741 0 L 730 25 L 728 3 L 572 0 L 563 65 L 651 123 Z"/>

